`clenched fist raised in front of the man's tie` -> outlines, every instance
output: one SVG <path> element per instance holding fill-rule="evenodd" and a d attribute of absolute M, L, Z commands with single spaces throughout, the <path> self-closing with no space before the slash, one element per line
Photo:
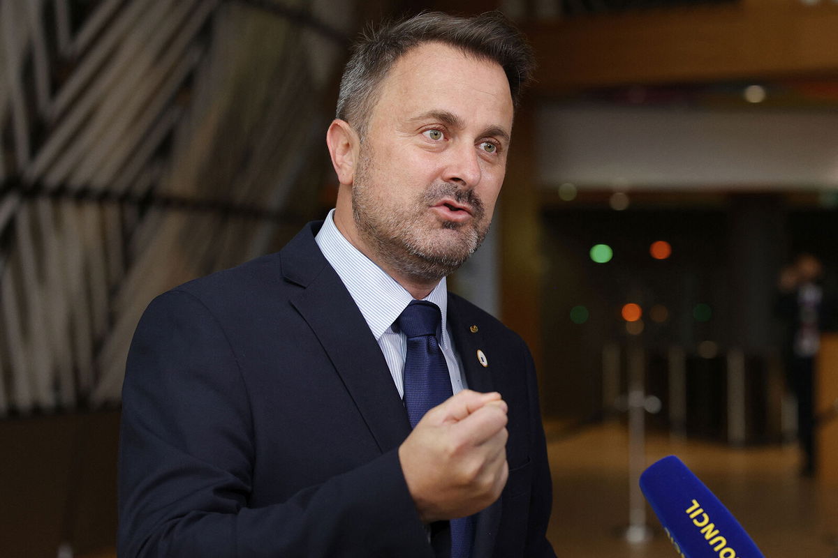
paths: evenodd
<path fill-rule="evenodd" d="M 506 403 L 463 390 L 428 411 L 399 447 L 401 470 L 425 523 L 492 504 L 509 475 Z"/>

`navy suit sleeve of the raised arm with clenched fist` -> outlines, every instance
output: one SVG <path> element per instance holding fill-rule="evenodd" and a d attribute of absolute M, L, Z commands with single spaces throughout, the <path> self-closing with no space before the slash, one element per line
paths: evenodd
<path fill-rule="evenodd" d="M 119 555 L 432 558 L 396 450 L 251 508 L 252 429 L 223 327 L 188 292 L 155 299 L 122 392 Z"/>

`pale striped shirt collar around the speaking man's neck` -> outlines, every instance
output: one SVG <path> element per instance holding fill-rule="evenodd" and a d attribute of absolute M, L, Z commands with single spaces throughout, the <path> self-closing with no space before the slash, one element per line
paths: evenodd
<path fill-rule="evenodd" d="M 328 263 L 337 272 L 346 285 L 349 294 L 367 325 L 370 326 L 375 340 L 384 335 L 402 310 L 405 310 L 413 297 L 388 275 L 375 262 L 360 253 L 347 240 L 334 224 L 334 209 L 328 212 L 323 227 L 314 241 L 320 247 Z M 448 346 L 448 291 L 446 278 L 442 278 L 436 287 L 423 300 L 439 306 L 442 312 L 442 346 Z"/>

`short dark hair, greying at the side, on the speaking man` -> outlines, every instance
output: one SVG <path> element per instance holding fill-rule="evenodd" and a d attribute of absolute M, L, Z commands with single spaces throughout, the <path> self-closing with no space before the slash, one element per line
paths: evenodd
<path fill-rule="evenodd" d="M 432 41 L 497 62 L 504 69 L 512 101 L 518 106 L 521 91 L 532 79 L 535 58 L 524 35 L 510 20 L 497 11 L 473 18 L 425 12 L 361 34 L 340 80 L 336 118 L 349 122 L 363 137 L 380 84 L 393 64 L 408 50 Z"/>

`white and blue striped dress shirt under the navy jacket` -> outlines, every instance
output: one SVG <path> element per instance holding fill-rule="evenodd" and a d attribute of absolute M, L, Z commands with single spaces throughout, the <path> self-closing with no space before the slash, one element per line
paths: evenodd
<path fill-rule="evenodd" d="M 338 273 L 340 280 L 346 285 L 361 314 L 364 315 L 372 335 L 375 336 L 381 352 L 384 353 L 384 359 L 390 367 L 390 374 L 396 383 L 396 389 L 399 390 L 399 396 L 404 397 L 402 372 L 405 367 L 407 339 L 403 333 L 396 333 L 393 330 L 393 322 L 410 304 L 413 297 L 396 282 L 396 279 L 386 274 L 384 269 L 360 253 L 344 238 L 334 224 L 333 214 L 334 209 L 328 212 L 323 227 L 320 228 L 314 240 L 328 263 Z M 462 367 L 454 351 L 451 332 L 448 328 L 448 291 L 444 277 L 431 294 L 423 300 L 439 306 L 439 310 L 442 311 L 442 327 L 437 332 L 437 341 L 442 354 L 445 355 L 448 374 L 451 376 L 452 391 L 461 392 L 467 386 L 460 373 Z"/>

